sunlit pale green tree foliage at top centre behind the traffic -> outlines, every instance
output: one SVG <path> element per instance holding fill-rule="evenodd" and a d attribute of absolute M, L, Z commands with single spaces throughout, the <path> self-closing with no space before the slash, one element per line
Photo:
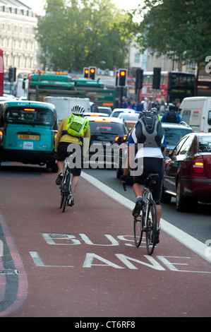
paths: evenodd
<path fill-rule="evenodd" d="M 44 66 L 81 71 L 101 61 L 111 70 L 125 65 L 127 43 L 116 23 L 126 14 L 111 0 L 47 0 L 45 10 L 37 30 Z"/>

